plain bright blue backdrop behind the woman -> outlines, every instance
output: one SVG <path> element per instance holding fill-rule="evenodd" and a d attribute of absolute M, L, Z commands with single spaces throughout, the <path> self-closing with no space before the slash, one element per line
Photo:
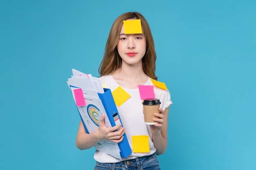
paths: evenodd
<path fill-rule="evenodd" d="M 75 146 L 72 68 L 99 76 L 124 12 L 150 24 L 171 92 L 163 170 L 256 169 L 255 0 L 0 2 L 0 169 L 93 169 Z"/>

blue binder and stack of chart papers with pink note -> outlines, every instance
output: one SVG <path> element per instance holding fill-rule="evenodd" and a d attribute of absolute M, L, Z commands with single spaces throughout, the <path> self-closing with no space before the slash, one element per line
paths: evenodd
<path fill-rule="evenodd" d="M 79 111 L 86 133 L 97 131 L 101 116 L 105 115 L 106 127 L 121 123 L 110 89 L 103 88 L 99 78 L 72 69 L 73 76 L 68 79 L 72 96 Z M 131 154 L 126 134 L 119 144 L 102 140 L 95 145 L 97 150 L 121 159 Z"/>

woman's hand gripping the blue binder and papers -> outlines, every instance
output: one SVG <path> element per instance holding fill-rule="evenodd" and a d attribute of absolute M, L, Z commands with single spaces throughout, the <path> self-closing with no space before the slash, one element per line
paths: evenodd
<path fill-rule="evenodd" d="M 118 131 L 117 131 L 118 130 Z M 97 131 L 97 137 L 101 140 L 108 140 L 111 142 L 119 143 L 124 139 L 125 127 L 121 124 L 117 124 L 113 127 L 106 127 L 105 125 L 105 115 L 101 116 L 99 129 Z"/>

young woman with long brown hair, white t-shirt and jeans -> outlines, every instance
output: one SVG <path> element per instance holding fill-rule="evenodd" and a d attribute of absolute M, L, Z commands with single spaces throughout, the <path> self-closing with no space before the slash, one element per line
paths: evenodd
<path fill-rule="evenodd" d="M 124 20 L 141 20 L 142 34 L 125 34 Z M 126 133 L 132 154 L 122 160 L 96 150 L 94 159 L 95 169 L 108 170 L 159 170 L 156 155 L 161 155 L 167 147 L 167 128 L 169 106 L 172 104 L 168 90 L 154 86 L 155 98 L 160 99 L 159 113 L 154 113 L 157 122 L 154 125 L 144 123 L 143 105 L 139 95 L 138 85 L 153 85 L 151 78 L 155 76 L 156 53 L 153 37 L 146 19 L 137 12 L 120 15 L 112 25 L 106 43 L 105 54 L 99 67 L 100 79 L 113 92 L 121 86 L 130 98 L 120 107 L 117 106 L 121 124 L 107 128 L 105 117 L 101 117 L 100 126 L 94 133 L 87 134 L 80 122 L 76 138 L 76 146 L 83 150 L 105 139 L 121 142 Z M 116 131 L 118 129 L 118 131 Z M 136 153 L 132 148 L 132 136 L 149 136 L 149 152 Z"/>

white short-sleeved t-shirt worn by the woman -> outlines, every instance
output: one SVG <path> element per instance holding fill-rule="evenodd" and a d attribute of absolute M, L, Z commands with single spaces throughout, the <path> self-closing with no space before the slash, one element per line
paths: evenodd
<path fill-rule="evenodd" d="M 119 85 L 111 75 L 106 75 L 100 77 L 102 83 L 113 92 Z M 153 85 L 148 77 L 148 81 L 144 85 Z M 146 155 L 152 155 L 155 153 L 156 148 L 152 142 L 152 132 L 150 126 L 144 123 L 143 115 L 143 105 L 142 100 L 139 95 L 139 88 L 137 89 L 126 89 L 122 87 L 128 94 L 130 98 L 126 100 L 120 107 L 117 106 L 119 116 L 121 118 L 122 124 L 126 127 L 126 136 L 130 144 L 132 153 L 127 158 L 122 158 L 122 160 L 117 159 L 111 155 L 108 155 L 104 152 L 96 150 L 94 153 L 94 159 L 101 163 L 116 163 L 123 160 L 135 159 L 136 157 L 143 157 Z M 160 108 L 165 110 L 167 107 L 172 105 L 171 96 L 168 90 L 164 90 L 154 86 L 155 98 L 160 99 L 161 104 Z M 134 135 L 148 135 L 149 136 L 149 153 L 133 153 L 132 149 L 132 136 Z"/>

